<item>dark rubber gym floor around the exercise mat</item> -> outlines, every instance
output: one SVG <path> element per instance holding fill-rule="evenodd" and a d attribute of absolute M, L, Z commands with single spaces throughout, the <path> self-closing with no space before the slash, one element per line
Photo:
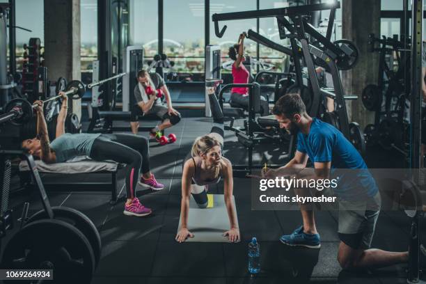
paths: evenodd
<path fill-rule="evenodd" d="M 128 123 L 116 122 L 116 125 L 127 127 Z M 125 191 L 121 192 L 122 197 L 116 205 L 109 204 L 111 196 L 107 192 L 48 191 L 52 205 L 81 210 L 100 231 L 102 257 L 93 283 L 406 283 L 406 266 L 402 265 L 374 271 L 340 269 L 337 212 L 316 213 L 317 229 L 322 237 L 319 250 L 284 246 L 278 238 L 300 226 L 300 212 L 251 211 L 248 179 L 234 180 L 242 242 L 175 242 L 180 215 L 182 161 L 194 139 L 206 134 L 211 126 L 208 118 L 183 118 L 167 132 L 175 133 L 178 141 L 165 146 L 150 143 L 152 172 L 165 188 L 157 192 L 139 188 L 137 196 L 141 203 L 153 209 L 153 214 L 145 218 L 123 215 Z M 147 136 L 148 132 L 139 135 Z M 268 149 L 271 149 L 270 145 L 263 145 L 258 150 Z M 226 157 L 233 164 L 239 164 L 246 158 L 244 153 L 235 135 L 226 132 Z M 258 159 L 257 154 L 254 157 Z M 400 158 L 393 153 L 372 149 L 366 160 L 371 167 L 390 168 L 397 167 Z M 384 161 L 386 165 L 381 165 Z M 119 189 L 123 188 L 123 183 L 120 176 Z M 223 183 L 210 187 L 210 193 L 223 194 Z M 11 200 L 15 219 L 19 218 L 24 201 L 30 202 L 29 215 L 42 209 L 36 192 L 17 196 Z M 19 223 L 15 224 L 16 230 Z M 409 217 L 403 212 L 381 212 L 372 247 L 407 250 L 409 225 Z M 12 234 L 8 233 L 2 244 L 6 244 Z M 253 236 L 260 241 L 262 267 L 261 273 L 254 278 L 247 271 L 247 244 Z"/>

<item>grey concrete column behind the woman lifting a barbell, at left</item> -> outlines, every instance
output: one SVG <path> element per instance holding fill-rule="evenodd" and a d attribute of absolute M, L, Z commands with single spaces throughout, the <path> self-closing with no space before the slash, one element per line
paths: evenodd
<path fill-rule="evenodd" d="M 47 79 L 81 80 L 80 0 L 45 0 L 45 67 Z M 81 100 L 72 100 L 81 119 Z"/>

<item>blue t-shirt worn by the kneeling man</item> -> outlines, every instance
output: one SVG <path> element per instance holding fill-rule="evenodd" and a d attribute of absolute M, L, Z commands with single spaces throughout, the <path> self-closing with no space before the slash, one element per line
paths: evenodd
<path fill-rule="evenodd" d="M 331 176 L 338 176 L 338 187 L 333 190 L 341 198 L 354 200 L 377 194 L 377 184 L 365 161 L 336 127 L 313 118 L 309 134 L 297 135 L 297 150 L 306 153 L 314 163 L 331 161 Z"/>

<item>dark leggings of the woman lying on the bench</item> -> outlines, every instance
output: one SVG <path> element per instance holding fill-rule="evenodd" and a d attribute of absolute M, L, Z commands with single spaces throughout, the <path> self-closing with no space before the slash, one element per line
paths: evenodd
<path fill-rule="evenodd" d="M 112 160 L 126 164 L 127 198 L 134 198 L 139 173 L 150 171 L 148 139 L 134 134 L 101 134 L 93 142 L 90 158 L 97 161 Z"/>

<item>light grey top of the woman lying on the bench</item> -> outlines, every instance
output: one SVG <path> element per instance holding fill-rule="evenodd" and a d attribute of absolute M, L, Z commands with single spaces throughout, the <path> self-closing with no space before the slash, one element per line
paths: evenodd
<path fill-rule="evenodd" d="M 93 142 L 99 136 L 99 133 L 62 134 L 50 143 L 50 148 L 55 151 L 56 163 L 63 163 L 76 156 L 90 156 Z"/>

